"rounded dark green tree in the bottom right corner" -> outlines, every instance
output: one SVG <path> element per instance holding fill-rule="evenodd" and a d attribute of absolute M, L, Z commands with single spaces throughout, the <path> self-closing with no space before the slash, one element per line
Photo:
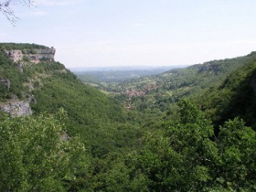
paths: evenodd
<path fill-rule="evenodd" d="M 252 191 L 256 188 L 256 133 L 238 117 L 219 128 L 217 144 L 220 161 L 216 183 L 229 191 Z"/>

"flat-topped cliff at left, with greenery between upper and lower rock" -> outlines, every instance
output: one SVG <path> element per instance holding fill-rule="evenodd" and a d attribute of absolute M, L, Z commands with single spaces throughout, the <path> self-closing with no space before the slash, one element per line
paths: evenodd
<path fill-rule="evenodd" d="M 32 93 L 30 78 L 33 77 L 23 73 L 24 66 L 33 66 L 40 61 L 54 62 L 55 53 L 53 47 L 27 43 L 0 43 L 0 111 L 11 116 L 32 114 L 30 103 L 37 101 Z"/>

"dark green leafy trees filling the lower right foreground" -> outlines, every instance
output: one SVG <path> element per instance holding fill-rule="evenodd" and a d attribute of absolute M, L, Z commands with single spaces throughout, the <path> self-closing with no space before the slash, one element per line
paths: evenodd
<path fill-rule="evenodd" d="M 181 101 L 181 120 L 165 122 L 162 136 L 146 137 L 136 170 L 149 191 L 253 191 L 256 135 L 243 120 L 227 121 L 214 136 L 209 120 Z"/>

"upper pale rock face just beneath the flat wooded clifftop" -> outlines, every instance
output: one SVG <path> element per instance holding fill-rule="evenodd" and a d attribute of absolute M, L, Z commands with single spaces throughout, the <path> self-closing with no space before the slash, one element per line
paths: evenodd
<path fill-rule="evenodd" d="M 56 50 L 52 47 L 44 50 L 5 50 L 5 53 L 13 62 L 20 62 L 26 56 L 31 62 L 38 63 L 40 60 L 54 61 Z"/>

